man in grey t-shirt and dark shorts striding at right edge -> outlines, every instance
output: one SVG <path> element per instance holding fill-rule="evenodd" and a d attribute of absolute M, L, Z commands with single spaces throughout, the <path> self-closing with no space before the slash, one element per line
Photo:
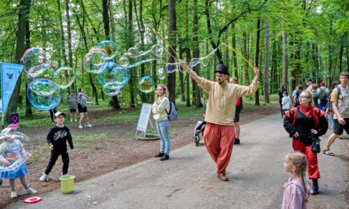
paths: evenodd
<path fill-rule="evenodd" d="M 330 101 L 334 111 L 334 130 L 333 134 L 327 139 L 325 149 L 322 151 L 325 155 L 334 155 L 329 151 L 329 147 L 334 141 L 343 134 L 343 130 L 349 133 L 349 89 L 348 89 L 348 72 L 339 74 L 339 86 L 336 86 L 331 93 Z"/>

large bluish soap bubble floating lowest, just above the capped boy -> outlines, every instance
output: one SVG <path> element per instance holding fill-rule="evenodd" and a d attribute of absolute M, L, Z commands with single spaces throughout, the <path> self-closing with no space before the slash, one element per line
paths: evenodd
<path fill-rule="evenodd" d="M 50 80 L 37 79 L 29 84 L 27 97 L 34 107 L 41 110 L 49 110 L 57 107 L 59 102 L 61 102 L 61 90 L 56 83 Z"/>

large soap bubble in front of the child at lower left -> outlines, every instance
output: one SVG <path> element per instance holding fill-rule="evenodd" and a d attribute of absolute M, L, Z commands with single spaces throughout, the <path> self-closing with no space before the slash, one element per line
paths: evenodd
<path fill-rule="evenodd" d="M 6 178 L 16 169 L 22 169 L 20 168 L 22 164 L 31 158 L 32 150 L 33 144 L 26 134 L 21 132 L 0 134 L 0 157 L 6 159 L 6 163 L 0 162 L 1 175 Z"/>

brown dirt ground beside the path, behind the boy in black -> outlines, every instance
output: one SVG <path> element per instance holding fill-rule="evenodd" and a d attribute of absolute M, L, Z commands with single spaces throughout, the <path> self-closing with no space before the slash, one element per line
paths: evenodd
<path fill-rule="evenodd" d="M 279 104 L 274 101 L 268 106 L 246 107 L 244 112 L 240 114 L 240 123 L 245 124 L 255 121 L 259 118 L 269 116 L 279 112 Z M 127 111 L 133 111 L 129 109 Z M 205 109 L 202 109 L 204 112 Z M 140 141 L 135 139 L 135 128 L 138 121 L 119 122 L 112 125 L 98 123 L 98 118 L 105 115 L 114 114 L 114 111 L 89 111 L 89 118 L 94 127 L 78 129 L 77 126 L 69 126 L 70 132 L 73 134 L 73 141 L 77 151 L 69 151 L 70 164 L 68 173 L 76 176 L 76 181 L 87 180 L 100 176 L 103 173 L 128 167 L 131 164 L 147 160 L 158 152 L 159 141 Z M 186 144 L 193 144 L 193 129 L 197 121 L 201 121 L 202 116 L 188 117 L 179 116 L 179 120 L 171 124 L 171 149 L 177 149 Z M 33 141 L 34 148 L 43 147 L 45 149 L 36 150 L 34 159 L 27 162 L 29 175 L 27 180 L 32 188 L 38 191 L 38 196 L 45 192 L 50 192 L 60 188 L 59 176 L 61 176 L 61 159 L 57 160 L 56 165 L 49 175 L 48 183 L 39 181 L 47 162 L 50 157 L 50 150 L 44 145 L 46 144 L 46 135 L 48 128 L 40 128 L 35 130 L 23 130 Z M 87 139 L 74 139 L 74 134 L 86 134 Z M 93 140 L 89 136 L 95 137 Z M 202 139 L 202 137 L 201 137 Z M 244 136 L 240 136 L 244 140 Z M 78 144 L 78 146 L 77 146 Z M 15 201 L 23 201 L 28 195 L 24 195 L 24 188 L 20 180 L 16 180 L 16 192 L 19 195 L 17 199 L 10 199 L 10 186 L 7 179 L 3 179 L 3 185 L 0 188 L 0 208 L 7 206 Z"/>

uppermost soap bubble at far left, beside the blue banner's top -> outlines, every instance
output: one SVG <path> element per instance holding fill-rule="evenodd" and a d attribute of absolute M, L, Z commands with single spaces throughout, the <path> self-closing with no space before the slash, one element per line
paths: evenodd
<path fill-rule="evenodd" d="M 31 47 L 24 52 L 21 59 L 24 69 L 30 69 L 36 65 L 47 63 L 46 52 L 40 47 Z"/>

